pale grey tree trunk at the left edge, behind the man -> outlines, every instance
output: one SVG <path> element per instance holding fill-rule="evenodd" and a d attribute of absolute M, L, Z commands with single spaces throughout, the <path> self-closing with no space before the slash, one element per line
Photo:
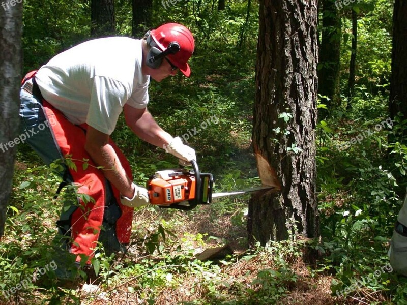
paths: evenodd
<path fill-rule="evenodd" d="M 0 9 L 0 239 L 4 233 L 18 136 L 22 69 L 22 3 Z M 7 146 L 5 144 L 8 144 Z M 4 145 L 4 146 L 3 146 Z"/>

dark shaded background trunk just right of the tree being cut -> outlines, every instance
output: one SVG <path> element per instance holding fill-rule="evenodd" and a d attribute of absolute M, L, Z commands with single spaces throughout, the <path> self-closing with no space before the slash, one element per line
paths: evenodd
<path fill-rule="evenodd" d="M 318 65 L 318 94 L 326 96 L 323 100 L 328 108 L 340 106 L 340 40 L 341 19 L 334 0 L 322 0 L 322 37 Z M 323 111 L 320 116 L 326 116 Z"/>

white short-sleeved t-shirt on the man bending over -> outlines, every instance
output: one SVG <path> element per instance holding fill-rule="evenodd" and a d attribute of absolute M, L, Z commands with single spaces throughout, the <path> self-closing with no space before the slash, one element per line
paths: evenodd
<path fill-rule="evenodd" d="M 149 102 L 141 43 L 100 38 L 56 55 L 35 76 L 44 99 L 73 124 L 86 123 L 110 135 L 125 104 L 143 109 Z"/>

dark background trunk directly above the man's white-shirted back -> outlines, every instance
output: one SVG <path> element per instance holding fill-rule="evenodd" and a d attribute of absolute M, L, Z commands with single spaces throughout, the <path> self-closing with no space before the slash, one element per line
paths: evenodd
<path fill-rule="evenodd" d="M 91 0 L 91 36 L 106 37 L 115 34 L 114 1 Z"/>

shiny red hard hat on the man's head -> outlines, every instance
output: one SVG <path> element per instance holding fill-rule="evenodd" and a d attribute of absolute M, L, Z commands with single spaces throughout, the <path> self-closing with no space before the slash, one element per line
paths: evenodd
<path fill-rule="evenodd" d="M 189 77 L 191 69 L 188 60 L 194 52 L 195 43 L 192 33 L 182 24 L 166 23 L 151 30 L 151 37 L 155 43 L 164 51 L 171 42 L 178 42 L 180 50 L 175 54 L 168 54 L 170 62 Z"/>

